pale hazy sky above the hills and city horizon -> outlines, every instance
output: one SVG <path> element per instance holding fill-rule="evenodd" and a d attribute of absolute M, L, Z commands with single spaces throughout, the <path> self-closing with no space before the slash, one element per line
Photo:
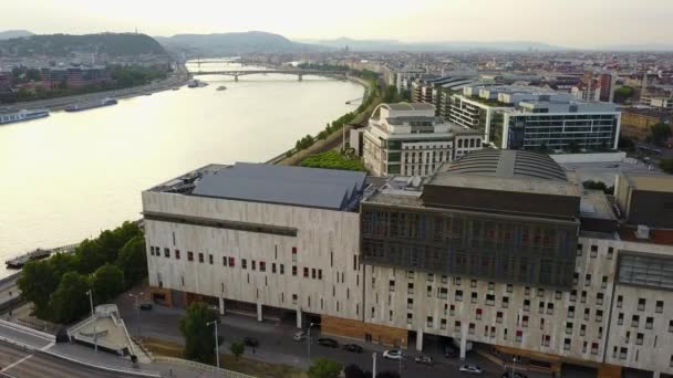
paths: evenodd
<path fill-rule="evenodd" d="M 673 44 L 673 0 L 0 0 L 0 29 Z"/>

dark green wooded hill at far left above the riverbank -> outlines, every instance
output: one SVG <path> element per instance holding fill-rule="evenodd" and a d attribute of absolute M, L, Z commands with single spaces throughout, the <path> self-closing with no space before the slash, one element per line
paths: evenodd
<path fill-rule="evenodd" d="M 134 33 L 44 34 L 0 41 L 0 53 L 9 55 L 69 56 L 74 52 L 107 53 L 111 56 L 167 55 L 157 41 L 148 35 Z"/>

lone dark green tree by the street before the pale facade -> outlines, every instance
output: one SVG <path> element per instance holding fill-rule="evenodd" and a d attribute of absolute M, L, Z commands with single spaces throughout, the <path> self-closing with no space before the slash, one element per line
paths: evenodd
<path fill-rule="evenodd" d="M 185 357 L 204 364 L 215 360 L 215 325 L 217 313 L 203 302 L 194 302 L 187 307 L 187 315 L 179 321 L 179 329 L 185 337 Z"/>

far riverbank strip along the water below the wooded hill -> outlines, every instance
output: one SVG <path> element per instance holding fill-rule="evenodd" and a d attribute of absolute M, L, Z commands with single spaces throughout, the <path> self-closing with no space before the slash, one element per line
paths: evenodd
<path fill-rule="evenodd" d="M 74 96 L 64 96 L 49 99 L 39 99 L 31 101 L 25 103 L 15 103 L 10 105 L 0 106 L 0 113 L 13 113 L 19 112 L 21 109 L 39 109 L 39 108 L 48 108 L 51 112 L 63 111 L 69 105 L 95 101 L 105 97 L 114 97 L 114 98 L 128 98 L 135 96 L 143 96 L 156 92 L 169 91 L 174 87 L 179 87 L 189 81 L 189 72 L 184 65 L 178 65 L 178 71 L 174 72 L 166 80 L 163 80 L 157 83 L 151 83 L 142 86 L 134 86 L 123 90 L 114 90 L 114 91 L 103 91 L 103 92 L 94 92 L 82 95 Z"/>

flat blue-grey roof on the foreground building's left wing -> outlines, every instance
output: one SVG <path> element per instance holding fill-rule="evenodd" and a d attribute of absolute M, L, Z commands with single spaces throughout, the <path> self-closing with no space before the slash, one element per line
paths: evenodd
<path fill-rule="evenodd" d="M 193 196 L 350 210 L 364 189 L 358 171 L 237 162 L 204 175 Z"/>

